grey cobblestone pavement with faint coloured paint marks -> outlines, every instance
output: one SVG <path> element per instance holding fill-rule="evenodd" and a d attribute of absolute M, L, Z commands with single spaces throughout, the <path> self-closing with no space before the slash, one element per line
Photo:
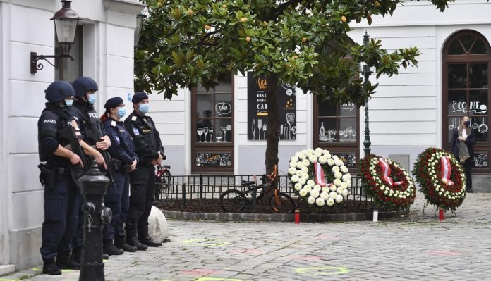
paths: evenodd
<path fill-rule="evenodd" d="M 171 242 L 111 256 L 106 280 L 491 280 L 491 194 L 468 194 L 442 222 L 432 206 L 423 215 L 422 197 L 409 216 L 378 223 L 169 221 Z M 30 269 L 0 281 L 78 273 Z"/>

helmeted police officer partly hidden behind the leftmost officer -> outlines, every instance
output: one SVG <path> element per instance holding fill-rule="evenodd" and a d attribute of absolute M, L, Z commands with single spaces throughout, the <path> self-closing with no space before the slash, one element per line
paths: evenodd
<path fill-rule="evenodd" d="M 97 112 L 94 109 L 95 100 L 97 98 L 95 92 L 99 89 L 97 83 L 90 77 L 79 77 L 72 83 L 73 89 L 75 89 L 75 101 L 70 111 L 73 117 L 80 124 L 80 129 L 83 132 L 84 141 L 90 146 L 95 146 L 100 151 L 104 151 L 111 146 L 111 141 L 104 132 L 103 137 L 99 139 L 97 136 L 97 123 L 99 118 Z M 110 167 L 111 163 L 107 163 Z M 75 235 L 73 236 L 73 259 L 80 263 L 80 257 L 82 256 L 83 246 L 83 213 L 82 205 L 83 200 L 80 200 L 80 206 L 78 209 L 78 226 Z"/>

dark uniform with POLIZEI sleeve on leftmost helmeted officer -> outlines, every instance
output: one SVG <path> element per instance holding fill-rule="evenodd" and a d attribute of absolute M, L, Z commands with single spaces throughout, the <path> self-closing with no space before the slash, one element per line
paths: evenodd
<path fill-rule="evenodd" d="M 59 131 L 63 125 L 68 125 L 70 119 L 68 111 L 47 103 L 37 122 L 40 161 L 46 161 L 46 168 L 55 171 L 54 177 L 47 178 L 44 189 L 40 251 L 45 265 L 52 263 L 55 256 L 58 256 L 58 261 L 69 257 L 71 239 L 77 227 L 79 192 L 69 172 L 72 164 L 68 158 L 54 155 L 59 145 L 67 144 L 59 136 Z"/>

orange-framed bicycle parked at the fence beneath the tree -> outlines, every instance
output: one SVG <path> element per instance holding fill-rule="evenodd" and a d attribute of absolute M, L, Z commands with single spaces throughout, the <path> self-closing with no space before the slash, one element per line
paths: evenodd
<path fill-rule="evenodd" d="M 272 178 L 271 182 L 274 182 L 274 179 L 276 178 L 276 166 L 272 175 L 268 175 L 267 177 L 269 179 Z M 243 180 L 241 185 L 247 189 L 245 192 L 241 192 L 238 189 L 229 189 L 220 194 L 219 204 L 223 211 L 229 213 L 240 212 L 243 211 L 246 206 L 255 207 L 262 201 L 265 195 L 264 192 L 257 196 L 257 198 L 255 195 L 257 194 L 257 190 L 266 187 L 265 185 L 256 185 L 255 181 L 248 180 Z M 284 192 L 280 192 L 277 186 L 272 185 L 271 187 L 273 187 L 273 195 L 269 198 L 269 206 L 271 206 L 273 211 L 277 213 L 293 213 L 293 210 L 295 210 L 295 202 L 291 199 L 291 196 Z M 248 197 L 248 195 L 251 195 L 252 197 Z"/>

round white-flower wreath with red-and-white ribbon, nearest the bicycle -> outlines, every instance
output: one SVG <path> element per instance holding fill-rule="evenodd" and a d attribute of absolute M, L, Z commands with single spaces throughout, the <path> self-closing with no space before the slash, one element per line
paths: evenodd
<path fill-rule="evenodd" d="M 329 151 L 303 149 L 291 157 L 289 166 L 291 185 L 308 204 L 333 206 L 348 197 L 351 175 L 344 162 Z"/>

